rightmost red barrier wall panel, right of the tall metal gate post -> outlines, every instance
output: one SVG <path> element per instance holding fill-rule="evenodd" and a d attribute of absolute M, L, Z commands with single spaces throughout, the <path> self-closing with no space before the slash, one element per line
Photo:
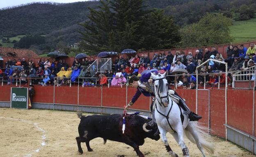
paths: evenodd
<path fill-rule="evenodd" d="M 253 91 L 229 90 L 227 124 L 252 135 Z"/>

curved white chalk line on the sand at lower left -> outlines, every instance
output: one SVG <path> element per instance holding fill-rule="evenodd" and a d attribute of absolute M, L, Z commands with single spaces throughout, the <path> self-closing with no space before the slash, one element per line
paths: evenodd
<path fill-rule="evenodd" d="M 41 147 L 46 145 L 46 142 L 45 142 L 45 139 L 46 139 L 46 131 L 43 130 L 42 128 L 40 128 L 40 127 L 37 125 L 38 123 L 32 123 L 32 122 L 26 121 L 26 120 L 24 120 L 24 119 L 15 119 L 15 118 L 9 118 L 9 117 L 0 117 L 0 118 L 16 120 L 16 121 L 24 122 L 24 123 L 27 123 L 27 124 L 33 124 L 39 131 L 41 131 L 41 132 L 43 133 L 43 135 L 41 136 L 41 137 L 42 137 Z M 36 150 L 33 150 L 32 152 L 30 152 L 30 153 L 27 154 L 27 155 L 24 155 L 23 157 L 31 157 L 34 153 L 38 153 L 39 150 L 40 150 L 40 148 L 39 148 L 39 149 L 36 149 Z M 18 157 L 18 156 L 19 156 L 19 155 L 14 155 L 14 157 Z"/>

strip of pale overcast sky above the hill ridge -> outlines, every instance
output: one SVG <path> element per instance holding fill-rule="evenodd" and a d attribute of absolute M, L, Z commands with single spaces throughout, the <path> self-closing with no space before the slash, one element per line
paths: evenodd
<path fill-rule="evenodd" d="M 20 4 L 26 4 L 30 2 L 58 2 L 58 3 L 72 3 L 81 2 L 87 0 L 0 0 L 0 8 L 13 7 Z"/>

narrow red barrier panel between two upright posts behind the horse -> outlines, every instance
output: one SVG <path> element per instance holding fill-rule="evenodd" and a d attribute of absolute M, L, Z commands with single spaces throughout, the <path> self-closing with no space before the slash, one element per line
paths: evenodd
<path fill-rule="evenodd" d="M 225 137 L 225 90 L 210 90 L 210 128 L 214 135 Z"/>

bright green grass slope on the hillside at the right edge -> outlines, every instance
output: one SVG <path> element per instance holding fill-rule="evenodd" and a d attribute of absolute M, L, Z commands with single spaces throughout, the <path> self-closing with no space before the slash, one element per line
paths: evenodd
<path fill-rule="evenodd" d="M 256 18 L 246 21 L 234 21 L 230 27 L 233 43 L 256 40 Z"/>

